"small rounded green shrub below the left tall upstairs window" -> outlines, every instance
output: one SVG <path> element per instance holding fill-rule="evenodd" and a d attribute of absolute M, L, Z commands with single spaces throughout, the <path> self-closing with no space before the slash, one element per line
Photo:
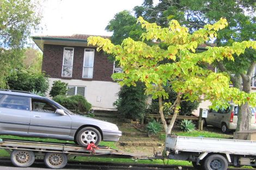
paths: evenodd
<path fill-rule="evenodd" d="M 53 81 L 52 89 L 49 93 L 51 97 L 55 97 L 58 95 L 66 95 L 66 92 L 68 92 L 68 83 L 64 83 L 60 80 Z"/>

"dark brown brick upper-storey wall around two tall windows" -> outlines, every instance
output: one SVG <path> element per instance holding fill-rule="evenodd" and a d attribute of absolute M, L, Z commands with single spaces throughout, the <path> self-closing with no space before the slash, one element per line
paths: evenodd
<path fill-rule="evenodd" d="M 112 81 L 113 62 L 110 62 L 103 52 L 96 52 L 96 48 L 94 48 L 93 78 L 82 78 L 84 48 L 87 47 L 72 47 L 74 48 L 72 78 L 62 77 L 64 47 L 72 46 L 44 45 L 42 71 L 45 71 L 51 78 Z"/>

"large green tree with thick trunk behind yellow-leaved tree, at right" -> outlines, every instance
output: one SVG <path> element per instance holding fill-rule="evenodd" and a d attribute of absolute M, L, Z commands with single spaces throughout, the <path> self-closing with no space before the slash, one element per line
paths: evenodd
<path fill-rule="evenodd" d="M 144 0 L 141 7 L 135 7 L 135 14 L 163 27 L 167 27 L 170 18 L 176 19 L 191 32 L 203 28 L 205 24 L 212 24 L 221 17 L 227 18 L 228 26 L 220 30 L 215 42 L 217 46 L 230 46 L 235 41 L 256 39 L 255 9 L 255 1 L 247 0 L 160 0 L 155 6 L 153 0 Z M 246 49 L 245 54 L 233 57 L 234 61 L 217 60 L 216 65 L 221 72 L 229 74 L 234 87 L 250 93 L 256 63 L 255 50 Z M 251 111 L 248 103 L 241 104 L 236 130 L 248 130 L 250 121 Z"/>

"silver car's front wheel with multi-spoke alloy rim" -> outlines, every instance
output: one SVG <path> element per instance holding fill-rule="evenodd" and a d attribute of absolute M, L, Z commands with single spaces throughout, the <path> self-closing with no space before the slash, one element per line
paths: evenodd
<path fill-rule="evenodd" d="M 80 146 L 86 147 L 90 142 L 94 142 L 97 146 L 101 141 L 101 134 L 99 130 L 93 127 L 85 127 L 78 131 L 76 135 L 76 142 Z"/>

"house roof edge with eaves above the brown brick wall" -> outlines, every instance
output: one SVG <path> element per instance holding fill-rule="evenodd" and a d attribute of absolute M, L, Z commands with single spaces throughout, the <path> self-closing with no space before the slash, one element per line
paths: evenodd
<path fill-rule="evenodd" d="M 102 35 L 73 34 L 69 36 L 33 36 L 32 39 L 35 44 L 41 49 L 41 51 L 43 51 L 45 44 L 65 46 L 88 46 L 87 39 L 89 36 L 101 36 L 104 38 L 110 37 Z"/>

